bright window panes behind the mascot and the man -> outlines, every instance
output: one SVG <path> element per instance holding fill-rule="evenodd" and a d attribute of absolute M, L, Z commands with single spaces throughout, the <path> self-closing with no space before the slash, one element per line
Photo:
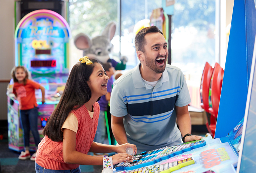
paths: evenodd
<path fill-rule="evenodd" d="M 143 19 L 150 19 L 152 11 L 161 7 L 159 0 L 70 0 L 72 38 L 80 32 L 91 37 L 100 35 L 107 23 L 116 21 L 116 35 L 111 41 L 114 45 L 112 58 L 119 61 L 120 56 L 126 56 L 126 70 L 129 70 L 139 63 L 134 47 L 134 26 Z M 177 0 L 172 28 L 169 28 L 172 65 L 181 68 L 192 103 L 199 108 L 204 65 L 208 62 L 214 66 L 216 62 L 215 11 L 215 0 Z M 70 52 L 72 67 L 83 53 L 72 43 Z"/>

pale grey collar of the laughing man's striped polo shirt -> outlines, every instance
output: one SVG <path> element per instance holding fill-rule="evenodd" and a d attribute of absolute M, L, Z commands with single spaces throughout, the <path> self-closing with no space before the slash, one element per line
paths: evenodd
<path fill-rule="evenodd" d="M 135 68 L 133 68 L 133 72 L 132 72 L 133 85 L 134 85 L 135 88 L 146 88 L 147 89 L 147 87 L 145 86 L 147 84 L 144 83 L 144 81 L 141 77 L 140 65 L 141 65 L 141 63 L 139 63 Z M 166 81 L 169 81 L 169 77 L 168 77 L 168 72 L 167 72 L 166 67 L 165 67 L 165 70 L 162 73 L 162 76 L 160 77 L 156 86 L 159 86 L 159 83 L 160 83 L 160 86 L 162 86 L 162 83 L 164 83 Z"/>

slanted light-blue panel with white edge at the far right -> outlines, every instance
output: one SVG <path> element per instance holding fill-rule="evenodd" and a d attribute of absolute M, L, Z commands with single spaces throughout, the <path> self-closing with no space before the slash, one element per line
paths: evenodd
<path fill-rule="evenodd" d="M 256 38 L 256 37 L 255 37 Z M 254 43 L 253 49 L 253 57 L 252 57 L 252 66 L 251 66 L 251 74 L 250 81 L 248 86 L 248 94 L 247 94 L 247 102 L 246 102 L 246 110 L 244 114 L 244 123 L 238 124 L 237 129 L 242 130 L 242 136 L 240 133 L 235 134 L 234 137 L 237 137 L 237 141 L 241 141 L 241 145 L 238 145 L 239 149 L 239 162 L 238 162 L 238 172 L 255 172 L 256 167 L 256 39 Z"/>

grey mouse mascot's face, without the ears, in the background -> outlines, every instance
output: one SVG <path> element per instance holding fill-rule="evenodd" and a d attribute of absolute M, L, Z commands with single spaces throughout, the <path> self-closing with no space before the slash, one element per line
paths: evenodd
<path fill-rule="evenodd" d="M 84 49 L 83 56 L 97 59 L 102 63 L 106 63 L 112 55 L 113 45 L 107 37 L 97 36 L 92 39 L 92 45 Z"/>

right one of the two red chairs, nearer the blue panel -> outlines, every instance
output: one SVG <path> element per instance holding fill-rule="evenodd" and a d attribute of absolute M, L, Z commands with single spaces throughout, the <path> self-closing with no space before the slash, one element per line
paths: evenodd
<path fill-rule="evenodd" d="M 216 121 L 218 117 L 219 105 L 220 105 L 220 94 L 223 81 L 224 70 L 218 63 L 215 63 L 212 73 L 212 79 L 209 87 L 209 113 L 210 125 L 209 128 L 213 133 L 213 138 L 216 129 Z"/>

